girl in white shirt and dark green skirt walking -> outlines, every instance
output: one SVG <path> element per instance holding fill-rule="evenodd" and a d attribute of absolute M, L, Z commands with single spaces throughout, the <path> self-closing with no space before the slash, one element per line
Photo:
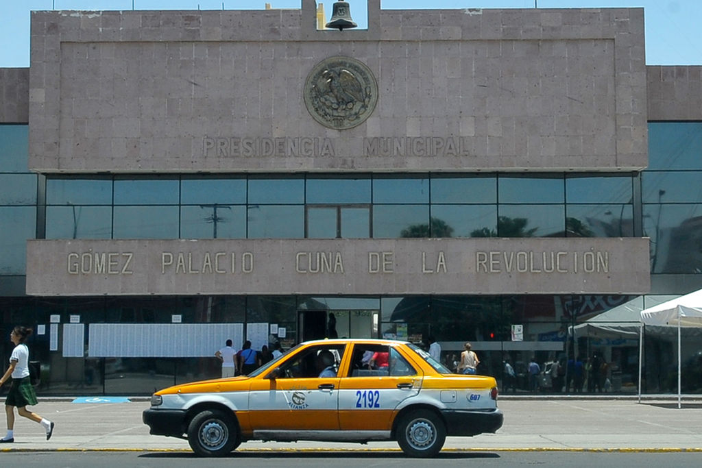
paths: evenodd
<path fill-rule="evenodd" d="M 32 328 L 23 326 L 16 326 L 10 334 L 10 340 L 14 343 L 15 349 L 13 349 L 10 356 L 10 367 L 0 377 L 0 386 L 12 378 L 12 387 L 10 387 L 10 392 L 5 400 L 7 434 L 4 439 L 0 439 L 0 443 L 12 443 L 15 441 L 15 406 L 20 416 L 39 422 L 39 424 L 44 426 L 47 441 L 51 439 L 51 434 L 53 434 L 53 422 L 27 410 L 27 405 L 37 404 L 37 395 L 34 394 L 34 387 L 29 382 L 29 348 L 25 345 L 29 335 L 32 335 Z"/>

